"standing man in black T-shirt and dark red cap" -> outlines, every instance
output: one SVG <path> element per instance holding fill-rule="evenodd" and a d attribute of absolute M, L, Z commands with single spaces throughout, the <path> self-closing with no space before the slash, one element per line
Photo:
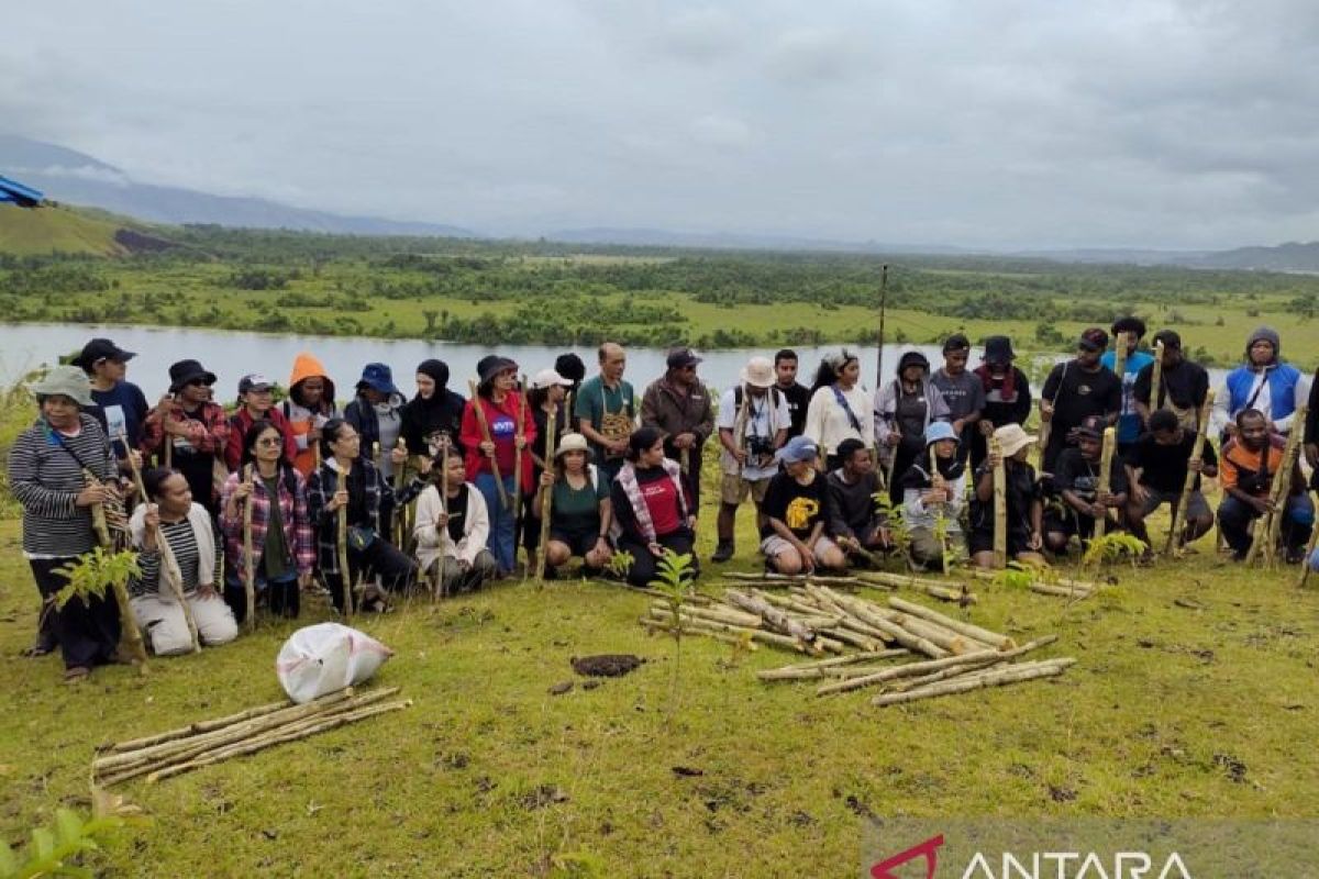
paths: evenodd
<path fill-rule="evenodd" d="M 1076 428 L 1091 415 L 1117 422 L 1122 409 L 1122 382 L 1100 362 L 1108 333 L 1091 327 L 1076 343 L 1076 357 L 1058 364 L 1045 380 L 1039 397 L 1039 420 L 1050 424 L 1043 453 L 1045 477 L 1053 474 L 1058 456 L 1076 444 Z"/>

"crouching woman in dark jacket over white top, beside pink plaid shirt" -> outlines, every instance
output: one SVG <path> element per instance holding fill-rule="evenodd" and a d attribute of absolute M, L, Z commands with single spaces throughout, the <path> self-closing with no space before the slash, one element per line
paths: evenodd
<path fill-rule="evenodd" d="M 365 580 L 365 590 L 357 605 L 368 611 L 388 609 L 379 586 L 389 592 L 402 592 L 417 582 L 418 568 L 413 559 L 400 552 L 388 539 L 388 519 L 384 518 L 384 499 L 401 505 L 421 494 L 426 488 L 422 478 L 430 472 L 430 459 L 417 463 L 418 476 L 394 492 L 385 482 L 380 468 L 361 455 L 361 436 L 352 424 L 332 418 L 321 436 L 321 469 L 307 481 L 307 507 L 317 528 L 317 565 L 334 606 L 344 608 L 344 588 Z M 347 509 L 348 571 L 339 568 L 338 515 Z M 368 580 L 369 579 L 369 580 Z M 379 580 L 379 585 L 377 581 Z"/>

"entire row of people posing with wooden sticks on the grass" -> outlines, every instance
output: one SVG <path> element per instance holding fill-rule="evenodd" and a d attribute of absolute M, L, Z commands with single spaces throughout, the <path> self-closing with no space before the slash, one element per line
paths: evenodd
<path fill-rule="evenodd" d="M 189 617 L 203 643 L 235 638 L 249 590 L 284 617 L 298 615 L 310 588 L 340 611 L 384 611 L 421 584 L 447 594 L 512 576 L 520 547 L 528 571 L 553 577 L 579 557 L 587 573 L 645 585 L 666 551 L 694 553 L 711 440 L 712 563 L 735 555 L 737 511 L 751 498 L 760 552 L 782 573 L 896 551 L 915 567 L 993 565 L 1000 463 L 1010 557 L 1064 553 L 1101 519 L 1149 543 L 1146 518 L 1181 502 L 1188 470 L 1220 480 L 1220 530 L 1244 556 L 1250 522 L 1272 509 L 1285 438 L 1302 428 L 1294 415 L 1319 403 L 1311 383 L 1281 358 L 1275 332 L 1256 331 L 1213 402 L 1220 452 L 1206 443 L 1195 455 L 1196 431 L 1208 430 L 1208 373 L 1171 329 L 1151 340 L 1157 368 L 1140 319 L 1117 320 L 1112 335 L 1121 351 L 1089 328 L 1049 373 L 1038 436 L 1024 427 L 1030 380 L 1005 336 L 987 339 L 973 368 L 960 333 L 938 369 L 907 352 L 873 393 L 849 351 L 826 357 L 806 386 L 783 349 L 751 357 L 718 403 L 690 348 L 670 351 L 640 395 L 624 378 L 627 352 L 607 343 L 590 378 L 572 353 L 530 382 L 514 361 L 484 357 L 470 398 L 450 389 L 441 360 L 418 364 L 410 398 L 388 365 L 367 364 L 342 406 L 324 365 L 302 353 L 282 401 L 274 382 L 248 374 L 230 407 L 197 360 L 173 364 L 168 393 L 150 405 L 125 378 L 135 354 L 94 339 L 33 385 L 37 420 L 9 453 L 22 548 L 45 602 L 32 652 L 61 650 L 70 680 L 115 658 L 112 598 L 54 602 L 65 565 L 107 540 L 138 552 L 131 608 L 157 654 L 191 648 Z M 1319 439 L 1316 419 L 1311 405 L 1306 435 Z M 1116 453 L 1103 472 L 1108 427 Z M 1314 441 L 1304 453 L 1319 464 Z M 1314 505 L 1301 468 L 1289 476 L 1278 514 L 1295 557 Z M 1187 542 L 1213 525 L 1198 485 L 1184 514 Z"/>

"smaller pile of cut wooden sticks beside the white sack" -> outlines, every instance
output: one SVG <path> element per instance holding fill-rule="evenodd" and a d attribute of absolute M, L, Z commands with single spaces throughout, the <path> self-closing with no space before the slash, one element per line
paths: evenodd
<path fill-rule="evenodd" d="M 252 754 L 412 705 L 412 700 L 385 701 L 397 693 L 397 687 L 388 687 L 356 695 L 350 687 L 305 705 L 261 705 L 228 717 L 108 745 L 99 749 L 102 755 L 92 760 L 92 779 L 99 787 L 144 775 L 148 781 L 160 781 L 231 756 Z"/>

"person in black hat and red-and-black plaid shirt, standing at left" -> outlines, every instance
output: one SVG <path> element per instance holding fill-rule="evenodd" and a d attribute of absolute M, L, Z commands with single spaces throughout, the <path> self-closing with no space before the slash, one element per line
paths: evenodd
<path fill-rule="evenodd" d="M 170 461 L 187 480 L 193 499 L 219 515 L 220 486 L 228 477 L 230 419 L 211 401 L 215 373 L 195 360 L 181 360 L 169 368 L 169 393 L 146 415 L 142 451 L 158 453 L 162 464 Z"/>

